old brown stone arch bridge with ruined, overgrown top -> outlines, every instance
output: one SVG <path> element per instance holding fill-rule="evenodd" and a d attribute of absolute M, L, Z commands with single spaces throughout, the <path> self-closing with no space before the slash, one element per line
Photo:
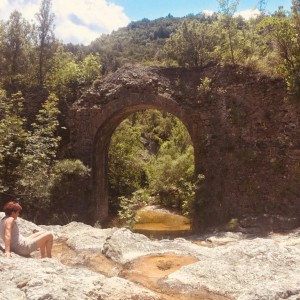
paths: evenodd
<path fill-rule="evenodd" d="M 195 69 L 125 65 L 74 103 L 69 146 L 71 156 L 92 169 L 86 201 L 93 220 L 108 216 L 110 138 L 142 109 L 174 114 L 190 133 L 195 172 L 205 175 L 195 196 L 196 231 L 266 214 L 299 224 L 299 103 L 289 100 L 281 79 L 215 63 Z"/>

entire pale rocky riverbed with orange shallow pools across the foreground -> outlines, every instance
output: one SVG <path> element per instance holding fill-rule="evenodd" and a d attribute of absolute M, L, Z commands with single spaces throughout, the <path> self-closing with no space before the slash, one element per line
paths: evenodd
<path fill-rule="evenodd" d="M 300 299 L 300 229 L 150 240 L 124 228 L 18 222 L 23 235 L 53 231 L 53 258 L 0 254 L 1 300 Z"/>

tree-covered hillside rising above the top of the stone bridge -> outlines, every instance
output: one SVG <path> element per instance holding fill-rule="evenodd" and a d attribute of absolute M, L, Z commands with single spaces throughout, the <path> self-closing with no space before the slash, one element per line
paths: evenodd
<path fill-rule="evenodd" d="M 132 22 L 99 37 L 86 51 L 100 53 L 104 73 L 127 62 L 198 67 L 216 60 L 283 76 L 290 92 L 299 92 L 299 1 L 272 15 L 264 2 L 258 3 L 260 15 L 249 20 L 235 16 L 238 1 L 220 0 L 218 14 Z"/>

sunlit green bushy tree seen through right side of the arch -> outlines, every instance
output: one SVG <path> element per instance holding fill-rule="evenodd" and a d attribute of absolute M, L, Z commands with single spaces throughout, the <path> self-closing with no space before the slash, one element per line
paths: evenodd
<path fill-rule="evenodd" d="M 169 139 L 162 143 L 158 155 L 147 165 L 149 193 L 159 194 L 163 205 L 182 209 L 184 200 L 192 193 L 193 151 L 190 135 L 176 119 Z"/>

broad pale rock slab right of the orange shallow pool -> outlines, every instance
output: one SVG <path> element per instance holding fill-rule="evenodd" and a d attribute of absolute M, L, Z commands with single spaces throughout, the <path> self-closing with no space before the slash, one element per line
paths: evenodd
<path fill-rule="evenodd" d="M 181 268 L 162 283 L 191 291 L 202 287 L 239 300 L 275 300 L 290 291 L 300 297 L 297 247 L 257 238 L 210 250 L 207 259 Z"/>

